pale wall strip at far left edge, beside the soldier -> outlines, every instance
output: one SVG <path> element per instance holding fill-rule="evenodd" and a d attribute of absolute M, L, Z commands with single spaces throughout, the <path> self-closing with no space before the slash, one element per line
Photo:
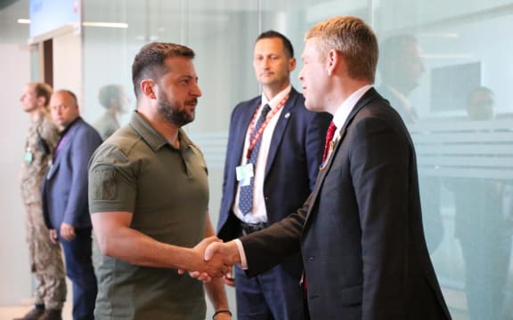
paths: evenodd
<path fill-rule="evenodd" d="M 31 296 L 25 211 L 20 196 L 20 170 L 29 117 L 20 108 L 20 93 L 30 81 L 28 48 L 0 44 L 0 305 L 20 304 Z"/>

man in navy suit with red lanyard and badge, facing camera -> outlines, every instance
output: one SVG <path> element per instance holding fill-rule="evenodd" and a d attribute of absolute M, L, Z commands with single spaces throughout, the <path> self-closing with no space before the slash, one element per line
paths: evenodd
<path fill-rule="evenodd" d="M 329 114 L 306 110 L 292 88 L 296 59 L 287 37 L 276 31 L 258 36 L 253 68 L 262 94 L 240 102 L 230 123 L 218 221 L 225 241 L 266 228 L 305 202 L 330 123 Z M 302 272 L 299 253 L 254 278 L 235 268 L 238 319 L 303 319 Z"/>

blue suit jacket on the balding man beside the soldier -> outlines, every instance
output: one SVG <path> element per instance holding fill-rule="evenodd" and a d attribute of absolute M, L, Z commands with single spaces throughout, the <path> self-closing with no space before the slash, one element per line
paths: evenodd
<path fill-rule="evenodd" d="M 43 182 L 43 210 L 48 228 L 62 222 L 91 228 L 87 203 L 87 164 L 102 144 L 100 134 L 78 117 L 65 132 L 66 139 Z"/>

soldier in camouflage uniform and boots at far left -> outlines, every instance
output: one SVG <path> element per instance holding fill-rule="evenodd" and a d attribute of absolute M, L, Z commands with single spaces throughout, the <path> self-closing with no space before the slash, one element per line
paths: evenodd
<path fill-rule="evenodd" d="M 21 176 L 21 195 L 27 210 L 27 242 L 31 271 L 37 278 L 35 308 L 19 319 L 61 319 L 66 282 L 61 246 L 50 240 L 41 202 L 41 186 L 59 140 L 57 127 L 47 107 L 52 95 L 48 84 L 28 84 L 20 97 L 21 107 L 31 117 Z"/>

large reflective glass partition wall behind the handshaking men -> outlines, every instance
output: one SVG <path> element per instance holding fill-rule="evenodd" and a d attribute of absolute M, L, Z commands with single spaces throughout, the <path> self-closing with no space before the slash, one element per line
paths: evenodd
<path fill-rule="evenodd" d="M 259 93 L 256 36 L 276 29 L 295 46 L 333 15 L 356 15 L 380 42 L 377 88 L 400 109 L 417 148 L 428 246 L 455 319 L 513 314 L 513 2 L 501 0 L 84 1 L 85 117 L 104 111 L 98 93 L 116 84 L 134 109 L 131 63 L 152 41 L 191 46 L 203 96 L 186 127 L 205 153 L 216 221 L 229 118 Z M 297 89 L 297 70 L 293 84 Z M 126 123 L 130 112 L 121 117 Z M 383 186 L 387 188 L 387 186 Z M 232 300 L 234 305 L 234 300 Z"/>

